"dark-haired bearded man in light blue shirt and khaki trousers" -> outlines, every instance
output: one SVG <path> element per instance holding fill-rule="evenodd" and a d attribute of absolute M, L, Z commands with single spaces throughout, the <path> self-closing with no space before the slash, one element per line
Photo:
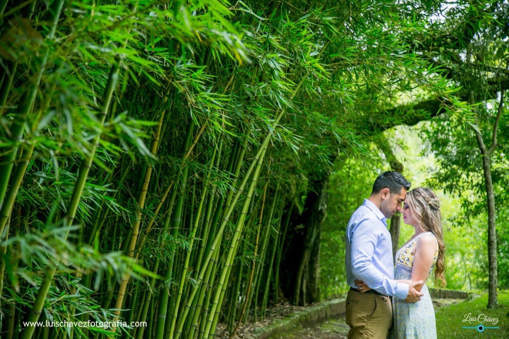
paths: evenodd
<path fill-rule="evenodd" d="M 420 300 L 416 285 L 394 280 L 392 242 L 387 218 L 401 209 L 410 182 L 398 172 L 378 176 L 369 199 L 352 214 L 346 235 L 346 273 L 350 291 L 346 302 L 346 323 L 350 338 L 385 339 L 392 325 L 390 297 L 407 302 Z M 360 293 L 355 285 L 362 280 L 371 290 Z"/>

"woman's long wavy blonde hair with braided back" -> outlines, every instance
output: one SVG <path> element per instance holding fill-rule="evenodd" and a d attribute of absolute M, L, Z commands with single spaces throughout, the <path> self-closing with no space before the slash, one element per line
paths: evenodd
<path fill-rule="evenodd" d="M 438 280 L 443 286 L 445 281 L 445 243 L 442 231 L 442 216 L 440 214 L 440 200 L 429 188 L 417 187 L 406 195 L 407 204 L 413 218 L 419 223 L 423 232 L 432 232 L 438 242 L 438 258 L 435 265 L 435 284 Z"/>

